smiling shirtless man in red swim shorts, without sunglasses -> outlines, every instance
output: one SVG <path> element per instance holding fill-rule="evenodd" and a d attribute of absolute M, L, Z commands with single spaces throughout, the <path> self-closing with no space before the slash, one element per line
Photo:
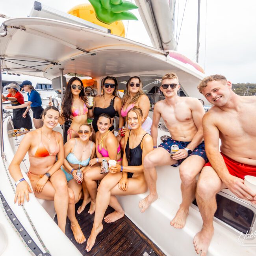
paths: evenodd
<path fill-rule="evenodd" d="M 256 97 L 238 96 L 222 75 L 208 76 L 198 89 L 214 106 L 203 117 L 209 163 L 197 184 L 197 204 L 203 227 L 194 237 L 196 252 L 205 256 L 213 236 L 215 195 L 224 188 L 256 204 L 256 193 L 244 185 L 244 176 L 256 176 Z M 221 139 L 221 152 L 219 152 Z"/>

